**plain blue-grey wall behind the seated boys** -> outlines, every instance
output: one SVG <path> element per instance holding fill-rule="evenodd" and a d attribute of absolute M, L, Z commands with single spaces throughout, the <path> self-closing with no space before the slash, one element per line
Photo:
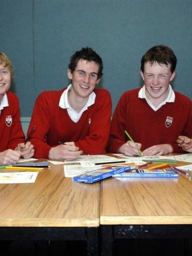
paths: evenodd
<path fill-rule="evenodd" d="M 159 44 L 177 55 L 173 86 L 192 97 L 191 0 L 0 0 L 0 51 L 14 65 L 22 117 L 41 91 L 68 85 L 69 58 L 82 46 L 103 58 L 99 86 L 114 109 L 125 90 L 141 86 L 141 57 Z"/>

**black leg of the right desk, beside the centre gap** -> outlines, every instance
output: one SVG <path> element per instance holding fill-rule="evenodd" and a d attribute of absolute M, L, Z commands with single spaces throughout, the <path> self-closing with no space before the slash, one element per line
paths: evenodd
<path fill-rule="evenodd" d="M 101 225 L 101 256 L 113 255 L 113 226 Z"/>

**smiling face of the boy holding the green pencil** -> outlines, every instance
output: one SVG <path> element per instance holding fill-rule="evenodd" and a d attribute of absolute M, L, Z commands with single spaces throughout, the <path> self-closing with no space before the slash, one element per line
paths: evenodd
<path fill-rule="evenodd" d="M 175 71 L 171 73 L 170 64 L 145 63 L 141 77 L 146 88 L 146 97 L 154 106 L 158 106 L 168 95 L 170 81 L 175 77 Z"/>

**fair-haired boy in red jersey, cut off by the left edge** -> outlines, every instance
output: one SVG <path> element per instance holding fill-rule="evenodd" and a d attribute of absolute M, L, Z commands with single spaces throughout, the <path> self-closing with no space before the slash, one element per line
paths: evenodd
<path fill-rule="evenodd" d="M 34 154 L 33 145 L 24 144 L 19 100 L 9 91 L 12 78 L 12 64 L 7 55 L 0 52 L 0 165 L 14 164 L 20 157 L 30 158 Z"/>

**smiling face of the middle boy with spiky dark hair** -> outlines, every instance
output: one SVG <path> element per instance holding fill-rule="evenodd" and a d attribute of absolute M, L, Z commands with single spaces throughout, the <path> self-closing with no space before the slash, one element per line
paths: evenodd
<path fill-rule="evenodd" d="M 94 61 L 79 60 L 77 67 L 72 73 L 68 69 L 68 77 L 72 80 L 72 93 L 76 97 L 88 98 L 98 84 L 99 65 Z"/>

